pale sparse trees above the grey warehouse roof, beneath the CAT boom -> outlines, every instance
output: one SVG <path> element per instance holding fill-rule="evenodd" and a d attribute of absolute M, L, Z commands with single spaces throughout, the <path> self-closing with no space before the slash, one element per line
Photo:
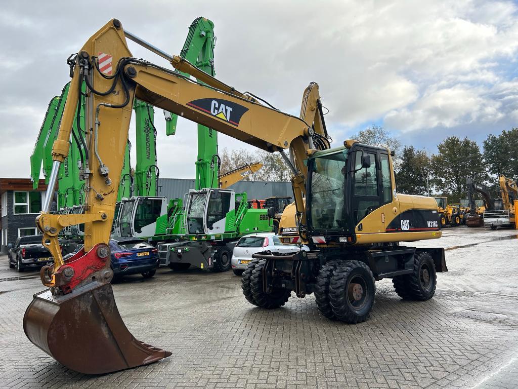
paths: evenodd
<path fill-rule="evenodd" d="M 247 176 L 246 180 L 250 181 L 289 181 L 293 175 L 278 152 L 272 153 L 264 150 L 251 152 L 247 149 L 228 150 L 224 148 L 220 153 L 220 158 L 220 174 L 240 168 L 247 163 L 261 162 L 263 167 Z"/>

